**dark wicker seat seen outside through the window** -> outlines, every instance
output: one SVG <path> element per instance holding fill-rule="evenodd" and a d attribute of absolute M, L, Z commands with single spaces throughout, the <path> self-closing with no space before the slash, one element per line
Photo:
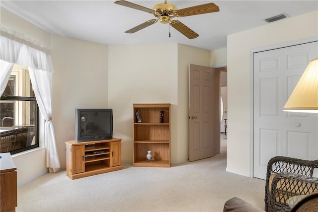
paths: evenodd
<path fill-rule="evenodd" d="M 34 127 L 23 127 L 0 133 L 0 153 L 31 145 L 35 136 Z"/>

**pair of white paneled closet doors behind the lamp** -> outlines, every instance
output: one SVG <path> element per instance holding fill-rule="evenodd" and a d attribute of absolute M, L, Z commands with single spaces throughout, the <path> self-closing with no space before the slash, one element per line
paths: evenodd
<path fill-rule="evenodd" d="M 317 114 L 283 112 L 309 62 L 318 57 L 318 42 L 254 54 L 253 176 L 266 178 L 276 155 L 318 158 Z"/>

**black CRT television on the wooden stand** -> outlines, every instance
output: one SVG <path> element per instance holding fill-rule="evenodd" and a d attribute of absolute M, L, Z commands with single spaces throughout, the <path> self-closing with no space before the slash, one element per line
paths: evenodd
<path fill-rule="evenodd" d="M 112 109 L 75 109 L 76 142 L 113 138 Z"/>

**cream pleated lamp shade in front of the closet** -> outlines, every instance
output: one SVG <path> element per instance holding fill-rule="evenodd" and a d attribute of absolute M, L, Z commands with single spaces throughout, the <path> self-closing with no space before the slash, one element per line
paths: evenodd
<path fill-rule="evenodd" d="M 318 58 L 307 66 L 284 111 L 318 113 Z"/>

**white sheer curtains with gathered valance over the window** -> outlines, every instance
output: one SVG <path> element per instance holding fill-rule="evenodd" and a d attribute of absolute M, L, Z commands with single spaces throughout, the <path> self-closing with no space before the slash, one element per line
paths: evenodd
<path fill-rule="evenodd" d="M 1 28 L 0 36 L 0 95 L 2 95 L 2 85 L 6 86 L 13 64 L 22 65 L 29 68 L 30 79 L 34 87 L 34 93 L 39 105 L 40 112 L 45 118 L 44 140 L 46 148 L 46 164 L 49 171 L 60 171 L 60 159 L 55 141 L 54 128 L 52 124 L 52 72 L 53 65 L 51 56 L 47 50 L 35 45 L 23 35 L 8 33 Z M 4 63 L 8 62 L 8 63 Z M 2 64 L 4 69 L 2 69 Z M 11 67 L 10 67 L 11 66 Z M 6 67 L 6 68 L 5 68 Z M 3 77 L 2 77 L 3 76 Z"/>

